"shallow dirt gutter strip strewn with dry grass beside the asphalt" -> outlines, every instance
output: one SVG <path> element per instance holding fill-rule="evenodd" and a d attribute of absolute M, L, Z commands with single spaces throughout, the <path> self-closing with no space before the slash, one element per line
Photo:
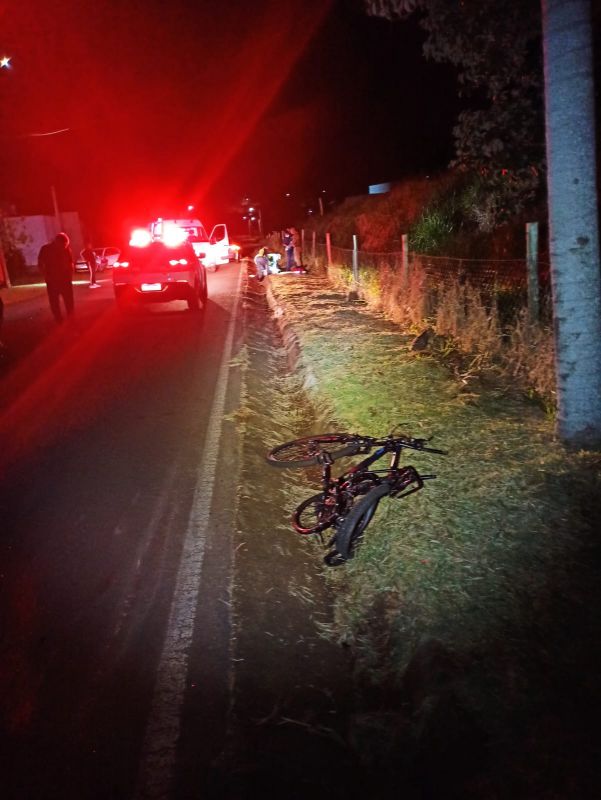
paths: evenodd
<path fill-rule="evenodd" d="M 323 548 L 290 527 L 290 511 L 314 491 L 308 478 L 315 476 L 265 461 L 270 446 L 300 435 L 315 420 L 289 372 L 264 289 L 252 280 L 245 324 L 233 706 L 220 796 L 224 790 L 230 797 L 279 790 L 286 797 L 349 797 L 357 773 L 346 740 L 348 654 L 322 635 L 332 617 Z"/>

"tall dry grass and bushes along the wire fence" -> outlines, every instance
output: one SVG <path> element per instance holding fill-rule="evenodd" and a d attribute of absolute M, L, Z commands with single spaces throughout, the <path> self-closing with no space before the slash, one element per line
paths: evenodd
<path fill-rule="evenodd" d="M 316 266 L 326 266 L 326 233 L 334 263 L 329 278 L 356 289 L 414 335 L 430 329 L 429 347 L 460 380 L 502 381 L 521 387 L 550 413 L 556 404 L 554 340 L 545 209 L 529 207 L 511 223 L 488 213 L 502 192 L 478 178 L 447 172 L 404 180 L 385 195 L 349 198 L 329 215 L 307 222 L 318 243 Z M 540 314 L 527 307 L 525 223 L 541 220 Z M 359 241 L 358 284 L 351 266 L 352 234 Z M 408 236 L 407 268 L 401 237 Z M 270 242 L 275 250 L 279 242 Z"/>

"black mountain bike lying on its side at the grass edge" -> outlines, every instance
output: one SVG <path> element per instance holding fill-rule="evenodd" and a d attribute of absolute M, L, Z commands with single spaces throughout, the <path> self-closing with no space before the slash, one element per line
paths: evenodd
<path fill-rule="evenodd" d="M 426 447 L 428 439 L 394 436 L 384 438 L 355 433 L 322 433 L 295 439 L 274 447 L 267 461 L 276 467 L 321 466 L 322 490 L 302 502 L 292 515 L 297 533 L 321 534 L 328 528 L 334 535 L 327 544 L 330 552 L 324 561 L 330 567 L 352 558 L 355 547 L 371 522 L 380 500 L 407 497 L 436 475 L 421 475 L 415 467 L 401 465 L 403 450 L 446 455 L 444 450 Z M 332 464 L 339 458 L 371 453 L 338 478 L 332 477 Z M 391 453 L 387 469 L 371 469 L 372 464 Z M 322 539 L 323 540 L 323 539 Z"/>

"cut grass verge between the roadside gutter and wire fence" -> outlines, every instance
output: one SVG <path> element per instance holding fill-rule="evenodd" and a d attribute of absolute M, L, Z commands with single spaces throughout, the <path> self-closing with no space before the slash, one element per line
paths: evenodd
<path fill-rule="evenodd" d="M 385 500 L 356 558 L 326 572 L 337 594 L 326 633 L 352 649 L 358 687 L 409 713 L 401 740 L 417 761 L 453 736 L 458 708 L 469 717 L 485 743 L 473 796 L 505 796 L 495 787 L 509 774 L 517 797 L 595 796 L 599 454 L 564 451 L 549 417 L 507 389 L 466 391 L 325 279 L 270 283 L 324 427 L 379 435 L 400 424 L 449 450 L 416 454 L 438 479 Z M 420 669 L 424 652 L 439 655 Z"/>

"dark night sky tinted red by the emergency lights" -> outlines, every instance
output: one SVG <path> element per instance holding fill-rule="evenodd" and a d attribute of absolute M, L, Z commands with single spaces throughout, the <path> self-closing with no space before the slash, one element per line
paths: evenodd
<path fill-rule="evenodd" d="M 360 0 L 21 0 L 0 25 L 0 202 L 51 213 L 55 186 L 96 238 L 190 202 L 211 225 L 245 195 L 277 227 L 286 192 L 341 199 L 452 156 L 452 70 L 417 20 Z"/>

